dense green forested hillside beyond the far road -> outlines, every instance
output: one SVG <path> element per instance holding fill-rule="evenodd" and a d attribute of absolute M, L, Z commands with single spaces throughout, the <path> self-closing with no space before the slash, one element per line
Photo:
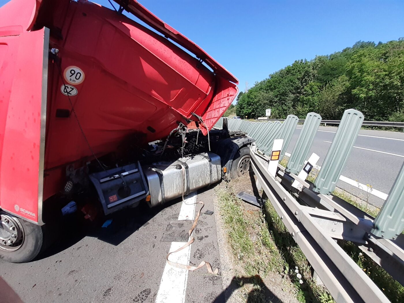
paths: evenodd
<path fill-rule="evenodd" d="M 271 118 L 304 119 L 316 112 L 340 120 L 354 108 L 365 120 L 404 122 L 403 84 L 404 38 L 377 45 L 359 41 L 331 55 L 297 60 L 256 82 L 237 96 L 236 115 L 263 117 L 271 108 Z"/>

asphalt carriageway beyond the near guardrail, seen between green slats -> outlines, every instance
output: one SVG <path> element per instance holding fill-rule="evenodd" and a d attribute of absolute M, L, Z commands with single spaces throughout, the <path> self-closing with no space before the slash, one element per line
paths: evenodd
<path fill-rule="evenodd" d="M 300 134 L 301 125 L 297 126 L 287 152 L 291 153 Z M 320 126 L 310 153 L 320 156 L 318 165 L 322 165 L 327 151 L 330 148 L 337 127 Z M 404 162 L 404 133 L 360 130 L 354 143 L 354 148 L 343 168 L 342 175 L 362 184 L 372 185 L 374 189 L 389 194 L 394 180 Z M 362 199 L 368 199 L 370 204 L 381 207 L 384 200 L 362 191 L 346 182 L 339 181 L 337 186 Z M 362 195 L 361 195 L 362 194 Z"/>

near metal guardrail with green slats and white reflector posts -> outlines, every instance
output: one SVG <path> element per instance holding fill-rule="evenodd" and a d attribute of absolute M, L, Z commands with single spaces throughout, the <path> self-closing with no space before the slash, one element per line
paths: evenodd
<path fill-rule="evenodd" d="M 229 130 L 242 130 L 255 139 L 250 156 L 258 184 L 337 303 L 389 302 L 383 291 L 336 243 L 338 239 L 355 243 L 404 285 L 404 250 L 397 239 L 404 236 L 401 234 L 404 164 L 376 218 L 331 194 L 363 119 L 362 113 L 356 110 L 345 111 L 314 184 L 305 179 L 315 164 L 310 159 L 318 160 L 318 156 L 313 154 L 309 161 L 306 159 L 320 125 L 320 115 L 307 115 L 286 168 L 280 166 L 281 157 L 276 155 L 282 154 L 290 143 L 296 116 L 288 116 L 282 124 L 227 120 Z M 215 126 L 223 126 L 223 118 Z"/>

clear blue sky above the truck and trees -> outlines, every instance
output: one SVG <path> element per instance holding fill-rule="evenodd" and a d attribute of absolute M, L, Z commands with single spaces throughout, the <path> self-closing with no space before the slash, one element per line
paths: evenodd
<path fill-rule="evenodd" d="M 404 36 L 404 0 L 139 2 L 234 74 L 240 90 L 296 59 Z"/>

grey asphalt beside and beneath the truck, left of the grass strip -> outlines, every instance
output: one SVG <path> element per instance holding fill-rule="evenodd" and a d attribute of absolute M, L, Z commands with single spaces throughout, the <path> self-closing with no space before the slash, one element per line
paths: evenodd
<path fill-rule="evenodd" d="M 214 209 L 214 194 L 206 190 L 197 196 L 190 194 L 185 202 L 191 205 L 177 199 L 168 207 L 124 210 L 104 228 L 89 231 L 80 223 L 66 223 L 59 241 L 39 260 L 25 264 L 0 261 L 1 276 L 26 303 L 224 302 L 221 277 L 206 276 L 205 267 L 186 271 L 166 265 L 170 247 L 185 244 L 162 241 L 171 229 L 168 223 L 192 220 L 200 208 L 192 203 L 199 200 L 205 206 L 194 230 L 196 241 L 190 250 L 170 259 L 191 265 L 206 260 L 220 274 L 215 215 L 204 214 Z"/>

